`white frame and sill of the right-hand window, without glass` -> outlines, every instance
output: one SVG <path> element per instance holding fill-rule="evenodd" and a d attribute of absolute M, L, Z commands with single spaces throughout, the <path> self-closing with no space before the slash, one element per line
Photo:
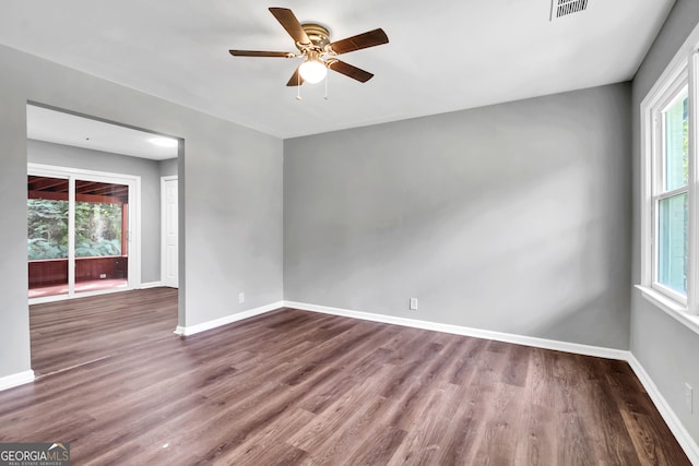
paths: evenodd
<path fill-rule="evenodd" d="M 698 188 L 698 103 L 699 103 L 699 26 L 689 35 L 663 74 L 641 101 L 641 283 L 642 296 L 675 319 L 699 333 L 699 188 Z M 662 183 L 663 133 L 661 112 L 684 87 L 689 94 L 689 180 L 688 180 L 688 263 L 687 296 L 661 285 L 656 280 L 657 250 L 653 235 L 657 218 L 655 205 L 657 183 Z M 662 186 L 662 184 L 661 184 Z M 684 191 L 684 189 L 675 190 Z"/>

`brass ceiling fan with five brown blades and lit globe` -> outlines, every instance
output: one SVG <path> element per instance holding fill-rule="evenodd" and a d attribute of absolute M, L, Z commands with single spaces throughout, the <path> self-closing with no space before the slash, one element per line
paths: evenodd
<path fill-rule="evenodd" d="M 353 80 L 366 83 L 374 74 L 337 60 L 341 53 L 347 53 L 363 48 L 388 44 L 389 38 L 383 29 L 378 28 L 346 39 L 330 41 L 328 28 L 315 23 L 301 24 L 294 12 L 286 8 L 270 8 L 282 27 L 294 39 L 299 53 L 288 51 L 259 50 L 228 50 L 234 57 L 281 57 L 304 58 L 304 62 L 296 69 L 286 83 L 287 86 L 298 86 L 304 82 L 318 83 L 325 77 L 328 69 L 336 71 Z"/>

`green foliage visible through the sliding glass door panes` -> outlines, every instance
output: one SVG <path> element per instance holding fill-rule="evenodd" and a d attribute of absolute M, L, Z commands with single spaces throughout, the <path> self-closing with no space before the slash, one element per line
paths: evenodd
<path fill-rule="evenodd" d="M 121 254 L 121 204 L 75 203 L 75 256 Z M 27 200 L 29 261 L 68 258 L 68 201 Z"/>

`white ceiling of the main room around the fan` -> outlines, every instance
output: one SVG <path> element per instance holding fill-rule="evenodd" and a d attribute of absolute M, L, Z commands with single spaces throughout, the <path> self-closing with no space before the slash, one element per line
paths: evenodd
<path fill-rule="evenodd" d="M 552 0 L 3 0 L 0 44 L 279 136 L 393 121 L 630 80 L 674 0 L 589 0 L 549 21 Z M 390 43 L 286 87 L 298 61 L 268 11 L 291 8 L 333 40 L 382 27 Z M 98 117 L 98 116 L 97 116 Z M 128 122 L 126 122 L 128 123 Z"/>

